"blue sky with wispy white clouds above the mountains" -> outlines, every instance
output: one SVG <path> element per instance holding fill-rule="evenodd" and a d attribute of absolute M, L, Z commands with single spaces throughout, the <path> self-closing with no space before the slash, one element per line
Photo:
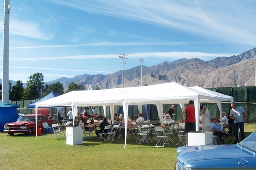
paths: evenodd
<path fill-rule="evenodd" d="M 4 5 L 2 0 L 2 6 Z M 9 79 L 44 82 L 256 47 L 255 0 L 10 0 Z M 3 8 L 0 17 L 3 23 Z M 1 65 L 2 67 L 2 65 Z M 3 75 L 1 73 L 0 78 Z"/>

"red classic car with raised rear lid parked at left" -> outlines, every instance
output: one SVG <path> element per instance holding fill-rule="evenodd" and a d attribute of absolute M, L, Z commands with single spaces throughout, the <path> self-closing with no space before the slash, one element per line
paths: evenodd
<path fill-rule="evenodd" d="M 49 126 L 52 126 L 54 120 L 38 114 L 38 128 L 43 129 L 44 122 L 47 122 Z M 35 114 L 21 115 L 16 122 L 7 123 L 3 128 L 3 131 L 9 135 L 14 135 L 15 133 L 29 133 L 32 135 L 35 129 Z"/>

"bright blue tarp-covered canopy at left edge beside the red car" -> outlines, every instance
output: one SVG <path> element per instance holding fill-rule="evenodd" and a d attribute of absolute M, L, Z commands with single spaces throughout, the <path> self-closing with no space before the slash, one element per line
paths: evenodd
<path fill-rule="evenodd" d="M 0 103 L 0 132 L 3 132 L 4 124 L 17 121 L 17 108 L 17 105 Z"/>

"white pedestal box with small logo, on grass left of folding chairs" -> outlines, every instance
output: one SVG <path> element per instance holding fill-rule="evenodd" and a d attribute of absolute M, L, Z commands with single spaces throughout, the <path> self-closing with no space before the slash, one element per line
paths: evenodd
<path fill-rule="evenodd" d="M 67 144 L 83 144 L 83 129 L 81 127 L 66 128 Z"/>

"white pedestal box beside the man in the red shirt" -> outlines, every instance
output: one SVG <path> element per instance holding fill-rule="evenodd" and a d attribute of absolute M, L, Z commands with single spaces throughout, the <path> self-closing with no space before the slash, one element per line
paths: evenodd
<path fill-rule="evenodd" d="M 189 132 L 188 146 L 212 144 L 212 132 Z"/>

